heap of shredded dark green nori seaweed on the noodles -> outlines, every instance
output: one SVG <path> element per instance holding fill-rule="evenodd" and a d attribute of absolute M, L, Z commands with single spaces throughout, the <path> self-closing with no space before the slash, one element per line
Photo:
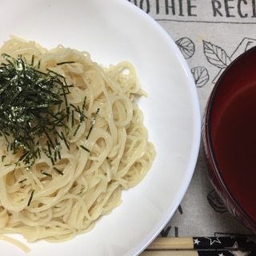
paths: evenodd
<path fill-rule="evenodd" d="M 81 107 L 70 105 L 66 95 L 73 85 L 68 85 L 66 79 L 53 70 L 40 70 L 40 62 L 34 63 L 34 56 L 30 63 L 22 55 L 13 58 L 2 54 L 2 58 L 5 62 L 0 66 L 0 136 L 6 138 L 6 150 L 18 154 L 15 164 L 23 162 L 26 170 L 42 152 L 54 165 L 62 158 L 60 141 L 64 141 L 68 149 L 70 146 L 66 125 L 69 118 L 74 126 L 74 111 L 80 114 L 74 135 L 79 122 L 87 118 L 84 114 L 86 98 Z M 57 65 L 66 63 L 73 62 Z M 61 170 L 54 170 L 62 174 Z"/>

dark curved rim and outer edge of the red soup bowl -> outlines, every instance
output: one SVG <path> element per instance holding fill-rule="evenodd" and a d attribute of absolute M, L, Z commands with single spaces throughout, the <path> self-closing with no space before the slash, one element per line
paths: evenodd
<path fill-rule="evenodd" d="M 208 156 L 207 158 L 208 158 L 208 160 L 210 160 L 210 166 L 212 167 L 211 169 L 214 170 L 214 174 L 217 175 L 216 178 L 218 178 L 218 182 L 222 186 L 222 188 L 221 188 L 222 192 L 225 192 L 226 196 L 229 198 L 232 205 L 236 209 L 238 209 L 238 214 L 241 215 L 243 218 L 246 218 L 246 222 L 248 222 L 248 224 L 250 226 L 252 226 L 254 228 L 254 230 L 256 231 L 256 222 L 242 208 L 242 206 L 240 205 L 238 200 L 234 197 L 234 195 L 230 191 L 230 188 L 226 185 L 226 182 L 225 182 L 225 180 L 222 176 L 222 172 L 221 172 L 220 167 L 218 166 L 218 162 L 215 158 L 213 142 L 212 142 L 212 130 L 211 130 L 211 126 L 210 126 L 212 116 L 213 116 L 213 111 L 214 111 L 213 106 L 214 106 L 214 103 L 215 103 L 215 99 L 218 97 L 218 90 L 222 86 L 222 82 L 229 75 L 230 70 L 234 69 L 234 66 L 238 65 L 239 62 L 242 62 L 243 59 L 246 58 L 246 56 L 248 54 L 252 54 L 252 53 L 255 53 L 255 52 L 256 52 L 256 46 L 253 46 L 249 50 L 246 50 L 242 54 L 238 55 L 238 57 L 235 58 L 234 61 L 230 62 L 230 65 L 227 66 L 225 68 L 225 70 L 223 70 L 222 74 L 220 75 L 217 82 L 215 83 L 214 88 L 211 91 L 210 97 L 209 97 L 208 102 L 206 104 L 206 110 L 205 110 L 205 114 L 204 114 L 204 126 L 205 126 L 204 127 L 204 130 L 205 130 L 204 131 L 204 133 L 205 133 L 204 137 L 206 139 L 206 142 L 204 142 L 206 144 L 204 146 L 204 148 L 205 148 L 206 154 Z M 209 156 L 210 156 L 210 159 L 209 159 Z M 219 194 L 219 195 L 223 199 L 223 196 L 221 194 Z M 226 200 L 224 200 L 224 201 L 226 201 Z M 236 217 L 239 218 L 239 216 L 237 216 L 236 212 L 234 212 L 234 211 L 232 211 L 232 212 Z"/>

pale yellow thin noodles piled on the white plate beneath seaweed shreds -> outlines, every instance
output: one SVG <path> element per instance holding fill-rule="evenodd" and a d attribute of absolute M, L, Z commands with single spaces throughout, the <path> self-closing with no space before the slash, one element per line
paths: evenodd
<path fill-rule="evenodd" d="M 63 175 L 54 171 L 45 154 L 30 170 L 15 167 L 18 156 L 6 150 L 6 140 L 0 137 L 0 155 L 6 155 L 0 162 L 0 233 L 22 234 L 29 242 L 61 242 L 88 232 L 100 216 L 121 203 L 122 190 L 141 182 L 154 161 L 154 146 L 147 140 L 142 112 L 134 101 L 143 94 L 134 67 L 120 62 L 105 68 L 93 62 L 87 52 L 63 46 L 46 50 L 20 38 L 10 38 L 0 53 L 14 58 L 22 54 L 28 62 L 34 55 L 34 62 L 41 61 L 42 71 L 50 69 L 64 76 L 74 85 L 68 102 L 81 106 L 86 97 L 89 117 L 75 136 L 75 127 L 70 126 L 69 150 L 61 141 L 62 159 L 54 166 Z M 66 64 L 57 65 L 60 62 Z"/>

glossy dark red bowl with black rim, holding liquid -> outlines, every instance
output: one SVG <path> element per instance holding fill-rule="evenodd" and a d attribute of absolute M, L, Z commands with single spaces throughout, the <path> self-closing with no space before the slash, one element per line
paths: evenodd
<path fill-rule="evenodd" d="M 256 47 L 236 58 L 215 84 L 202 142 L 215 190 L 256 234 Z"/>

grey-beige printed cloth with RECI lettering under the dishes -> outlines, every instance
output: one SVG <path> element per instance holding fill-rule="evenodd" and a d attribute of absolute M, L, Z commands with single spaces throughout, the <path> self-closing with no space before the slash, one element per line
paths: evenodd
<path fill-rule="evenodd" d="M 227 60 L 256 45 L 256 1 L 129 0 L 154 18 L 182 50 L 194 74 L 203 114 Z M 206 46 L 209 50 L 206 51 Z M 207 176 L 202 146 L 194 177 L 159 236 L 250 235 L 226 210 Z"/>

